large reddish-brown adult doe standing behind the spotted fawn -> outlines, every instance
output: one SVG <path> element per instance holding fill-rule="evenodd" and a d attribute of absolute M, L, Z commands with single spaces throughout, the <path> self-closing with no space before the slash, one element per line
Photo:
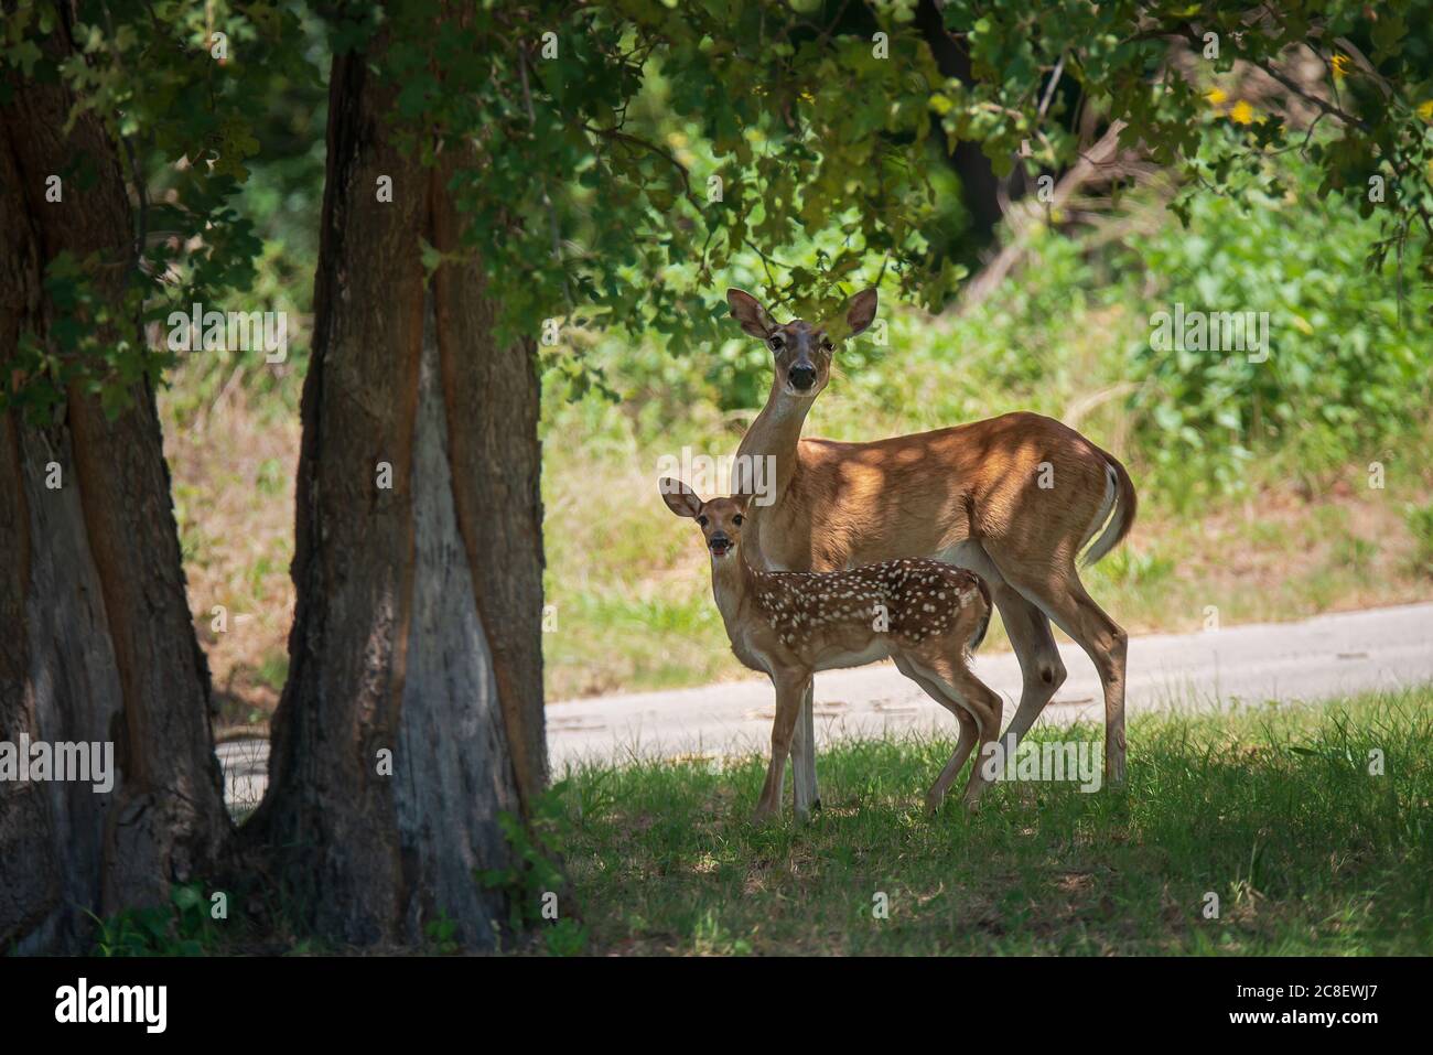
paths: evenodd
<path fill-rule="evenodd" d="M 876 320 L 876 290 L 815 324 L 778 324 L 742 290 L 728 290 L 727 302 L 742 333 L 767 344 L 774 366 L 771 393 L 737 457 L 738 466 L 775 459 L 774 487 L 749 510 L 752 566 L 834 572 L 930 558 L 974 572 L 989 585 L 1020 664 L 1020 702 L 1006 737 L 1017 745 L 1065 682 L 1053 622 L 1095 664 L 1105 695 L 1105 781 L 1123 783 L 1128 638 L 1085 591 L 1076 559 L 1083 550 L 1091 566 L 1129 535 L 1138 499 L 1125 466 L 1066 424 L 1025 411 L 871 443 L 802 439 L 835 343 Z M 811 702 L 807 687 L 791 745 L 798 808 L 821 804 Z"/>

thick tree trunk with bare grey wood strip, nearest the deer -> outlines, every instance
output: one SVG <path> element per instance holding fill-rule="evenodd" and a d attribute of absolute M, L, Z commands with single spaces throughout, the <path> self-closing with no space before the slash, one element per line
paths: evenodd
<path fill-rule="evenodd" d="M 492 947 L 506 896 L 474 870 L 546 783 L 535 348 L 494 343 L 470 258 L 424 281 L 424 241 L 460 248 L 453 152 L 390 142 L 373 57 L 330 82 L 289 679 L 246 831 L 332 939 L 413 943 L 446 915 Z"/>

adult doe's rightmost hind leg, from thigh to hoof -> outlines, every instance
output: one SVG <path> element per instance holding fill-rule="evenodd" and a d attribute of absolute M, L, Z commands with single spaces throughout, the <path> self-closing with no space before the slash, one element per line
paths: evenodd
<path fill-rule="evenodd" d="M 1075 562 L 1065 559 L 1049 573 L 1000 565 L 1006 582 L 1039 605 L 1056 626 L 1069 634 L 1099 672 L 1105 688 L 1105 781 L 1125 780 L 1125 655 L 1128 635 L 1085 592 Z M 1023 701 L 1022 701 L 1023 704 Z"/>

